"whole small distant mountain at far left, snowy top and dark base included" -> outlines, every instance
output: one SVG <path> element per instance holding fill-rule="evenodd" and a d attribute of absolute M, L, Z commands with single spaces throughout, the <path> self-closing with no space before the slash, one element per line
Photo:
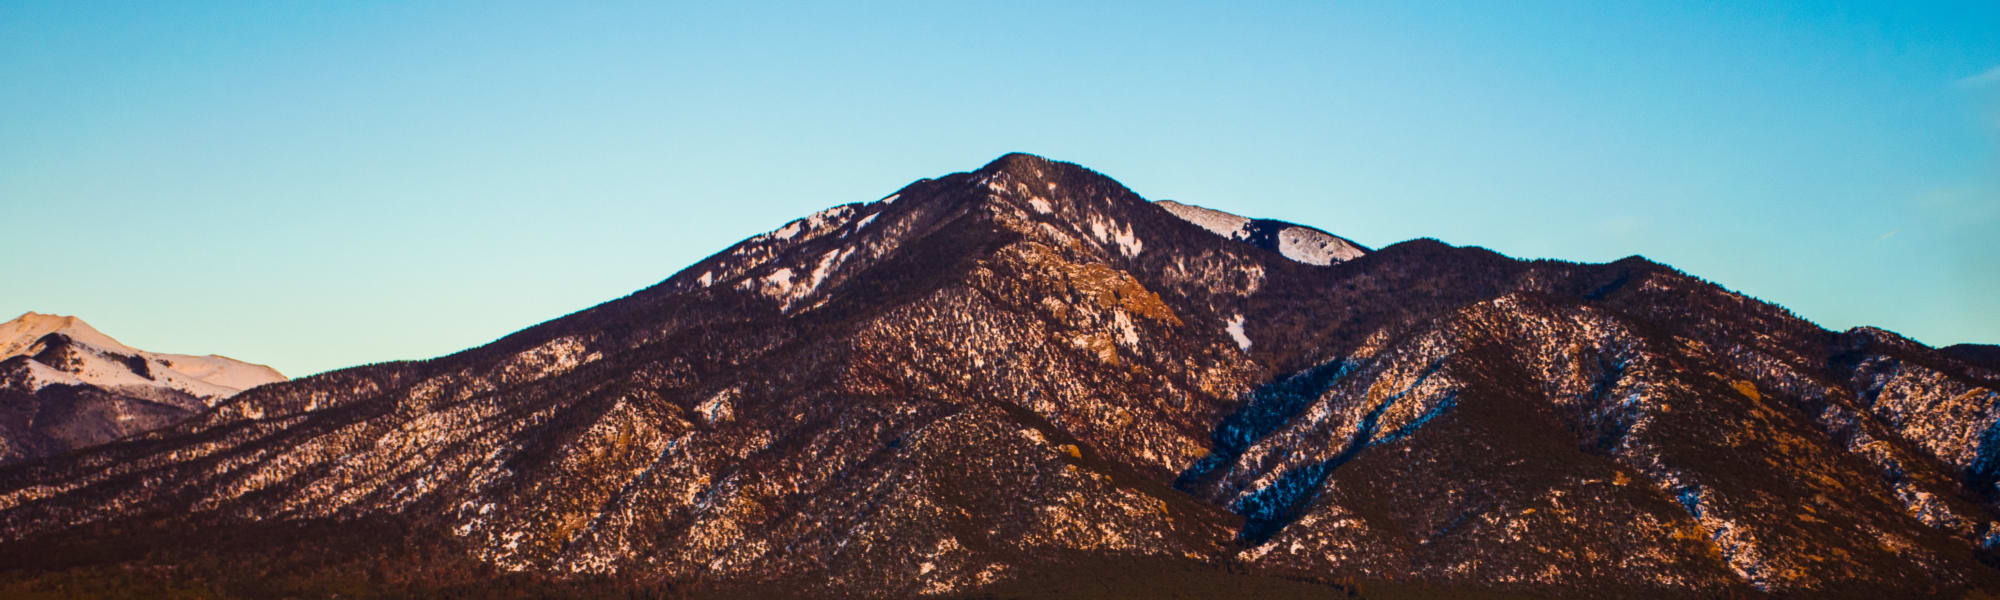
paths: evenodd
<path fill-rule="evenodd" d="M 270 366 L 144 352 L 80 318 L 28 312 L 0 322 L 0 462 L 162 428 L 282 380 Z"/>

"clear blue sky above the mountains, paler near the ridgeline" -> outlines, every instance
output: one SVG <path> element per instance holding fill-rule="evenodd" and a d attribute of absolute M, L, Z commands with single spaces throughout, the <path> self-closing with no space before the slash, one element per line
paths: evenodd
<path fill-rule="evenodd" d="M 0 320 L 426 358 L 1022 150 L 2000 342 L 2000 2 L 408 4 L 0 2 Z"/>

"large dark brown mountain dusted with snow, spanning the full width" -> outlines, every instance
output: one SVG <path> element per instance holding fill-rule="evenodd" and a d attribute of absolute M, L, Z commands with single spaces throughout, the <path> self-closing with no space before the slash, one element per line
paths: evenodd
<path fill-rule="evenodd" d="M 0 590 L 1994 594 L 1996 388 L 1636 256 L 1366 250 L 1008 154 L 0 468 Z"/>

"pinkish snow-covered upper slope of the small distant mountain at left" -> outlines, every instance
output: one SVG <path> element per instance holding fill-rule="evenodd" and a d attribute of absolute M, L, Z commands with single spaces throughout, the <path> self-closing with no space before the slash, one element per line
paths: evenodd
<path fill-rule="evenodd" d="M 30 390 L 50 384 L 90 384 L 114 392 L 164 388 L 196 396 L 206 406 L 286 380 L 270 366 L 226 356 L 138 350 L 80 318 L 40 312 L 0 324 L 0 360 L 14 356 L 28 356 Z"/>

